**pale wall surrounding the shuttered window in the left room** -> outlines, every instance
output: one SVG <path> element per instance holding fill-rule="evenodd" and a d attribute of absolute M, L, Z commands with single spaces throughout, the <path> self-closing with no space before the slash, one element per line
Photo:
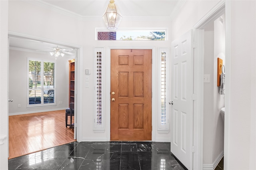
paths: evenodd
<path fill-rule="evenodd" d="M 27 108 L 27 58 L 46 59 L 47 61 L 56 61 L 56 106 Z M 9 53 L 9 97 L 13 102 L 9 103 L 9 115 L 18 115 L 26 113 L 37 113 L 42 111 L 54 111 L 68 108 L 68 77 L 69 77 L 69 59 L 74 56 L 65 55 L 65 57 L 52 57 L 49 53 L 21 51 L 10 49 Z M 63 104 L 59 104 L 62 101 Z M 18 104 L 21 105 L 18 108 Z"/>

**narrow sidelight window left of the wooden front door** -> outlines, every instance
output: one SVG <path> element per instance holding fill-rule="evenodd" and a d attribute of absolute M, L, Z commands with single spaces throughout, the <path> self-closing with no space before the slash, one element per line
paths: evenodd
<path fill-rule="evenodd" d="M 102 105 L 102 61 L 103 61 L 103 48 L 95 48 L 95 56 L 94 56 L 94 61 L 95 61 L 95 116 L 94 116 L 94 132 L 104 132 L 104 115 L 103 115 L 103 105 Z"/>

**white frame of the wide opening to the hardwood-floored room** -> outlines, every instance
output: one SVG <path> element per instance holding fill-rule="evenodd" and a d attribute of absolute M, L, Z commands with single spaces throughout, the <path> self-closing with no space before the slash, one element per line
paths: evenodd
<path fill-rule="evenodd" d="M 56 41 L 56 40 L 51 40 L 51 39 L 47 39 L 47 38 L 42 38 L 42 37 L 37 37 L 37 36 L 32 36 L 29 34 L 22 34 L 19 32 L 13 32 L 13 31 L 9 31 L 8 32 L 8 36 L 12 36 L 12 37 L 17 37 L 17 38 L 25 38 L 25 39 L 30 39 L 30 40 L 36 40 L 36 41 L 40 41 L 40 42 L 46 42 L 46 43 L 53 43 L 53 44 L 57 44 L 57 45 L 62 45 L 62 46 L 66 46 L 66 47 L 70 47 L 70 48 L 74 48 L 77 49 L 77 55 L 75 57 L 75 62 L 78 63 L 76 64 L 76 85 L 75 85 L 75 89 L 76 91 L 79 91 L 79 93 L 76 93 L 75 91 L 75 115 L 76 115 L 76 136 L 74 134 L 74 138 L 76 137 L 76 140 L 78 142 L 82 141 L 82 119 L 80 119 L 80 117 L 82 117 L 81 113 L 82 113 L 82 68 L 83 68 L 83 49 L 81 45 L 76 45 L 76 44 L 72 44 L 72 43 L 65 43 L 65 42 L 60 42 L 60 41 Z M 9 77 L 8 77 L 9 78 Z M 9 114 L 9 113 L 8 113 Z M 9 136 L 9 133 L 8 133 Z"/>

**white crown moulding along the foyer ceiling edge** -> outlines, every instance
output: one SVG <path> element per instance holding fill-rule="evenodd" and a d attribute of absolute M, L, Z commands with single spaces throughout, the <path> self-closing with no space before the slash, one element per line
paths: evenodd
<path fill-rule="evenodd" d="M 81 21 L 102 21 L 102 16 L 82 16 L 80 14 L 77 14 L 75 12 L 72 12 L 70 10 L 66 10 L 64 8 L 60 8 L 59 6 L 52 5 L 48 2 L 40 1 L 40 0 L 24 0 L 25 2 L 28 2 L 30 4 L 57 12 L 59 14 L 68 16 L 70 18 L 74 18 Z M 184 2 L 186 0 L 180 0 L 178 1 L 177 5 L 174 7 L 174 10 L 170 16 L 123 16 L 123 21 L 171 21 L 176 14 L 178 14 L 178 11 L 180 8 L 182 8 Z"/>

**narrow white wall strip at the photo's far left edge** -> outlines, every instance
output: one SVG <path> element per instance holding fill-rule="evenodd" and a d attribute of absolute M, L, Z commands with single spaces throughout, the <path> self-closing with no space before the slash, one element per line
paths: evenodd
<path fill-rule="evenodd" d="M 8 169 L 8 1 L 0 1 L 0 169 Z"/>

